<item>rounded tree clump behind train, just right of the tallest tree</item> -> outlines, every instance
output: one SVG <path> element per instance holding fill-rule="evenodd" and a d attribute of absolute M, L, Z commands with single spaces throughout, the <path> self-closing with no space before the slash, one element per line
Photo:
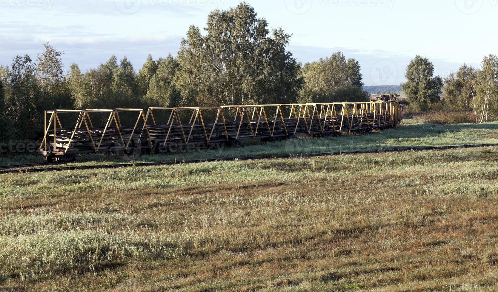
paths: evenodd
<path fill-rule="evenodd" d="M 365 101 L 368 93 L 363 90 L 360 64 L 346 59 L 340 51 L 330 58 L 303 66 L 305 85 L 301 102 Z"/>

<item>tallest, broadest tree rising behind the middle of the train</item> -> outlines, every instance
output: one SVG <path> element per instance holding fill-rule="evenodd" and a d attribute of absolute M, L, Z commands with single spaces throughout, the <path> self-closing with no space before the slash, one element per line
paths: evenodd
<path fill-rule="evenodd" d="M 299 64 L 286 51 L 290 35 L 273 29 L 243 2 L 208 15 L 207 34 L 191 26 L 178 52 L 175 85 L 185 101 L 205 105 L 297 100 Z"/>

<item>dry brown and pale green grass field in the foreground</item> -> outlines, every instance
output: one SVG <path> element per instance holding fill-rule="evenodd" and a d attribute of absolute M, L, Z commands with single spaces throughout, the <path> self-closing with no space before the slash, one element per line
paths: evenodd
<path fill-rule="evenodd" d="M 404 127 L 340 139 L 498 136 Z M 497 175 L 498 147 L 4 174 L 0 290 L 493 291 Z"/>

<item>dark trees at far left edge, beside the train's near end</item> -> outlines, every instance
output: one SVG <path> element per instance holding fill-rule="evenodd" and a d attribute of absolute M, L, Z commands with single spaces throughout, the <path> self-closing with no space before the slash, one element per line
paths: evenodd
<path fill-rule="evenodd" d="M 10 138 L 36 139 L 42 134 L 43 110 L 73 107 L 61 61 L 64 52 L 49 43 L 43 46 L 36 64 L 25 55 L 13 58 L 10 70 L 0 66 L 2 132 L 17 135 Z"/>

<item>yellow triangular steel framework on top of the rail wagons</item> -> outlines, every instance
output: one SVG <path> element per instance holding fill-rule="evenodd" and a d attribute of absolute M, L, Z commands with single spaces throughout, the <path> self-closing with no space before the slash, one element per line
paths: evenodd
<path fill-rule="evenodd" d="M 282 108 L 290 107 L 288 119 L 284 118 Z M 40 145 L 40 150 L 51 151 L 57 153 L 67 153 L 74 137 L 83 127 L 90 137 L 93 149 L 98 152 L 101 149 L 103 139 L 109 129 L 116 126 L 116 131 L 120 136 L 120 141 L 123 144 L 123 148 L 128 149 L 133 135 L 137 131 L 138 124 L 140 120 L 143 122 L 143 126 L 140 132 L 141 141 L 145 138 L 152 148 L 153 143 L 149 131 L 149 119 L 151 120 L 151 125 L 157 126 L 157 121 L 154 117 L 154 110 L 168 110 L 170 111 L 168 120 L 165 126 L 168 128 L 163 146 L 167 145 L 168 138 L 170 136 L 173 127 L 178 126 L 182 133 L 183 143 L 189 144 L 194 132 L 195 127 L 202 127 L 202 132 L 204 133 L 204 139 L 206 143 L 210 143 L 213 138 L 215 128 L 218 125 L 223 125 L 224 139 L 229 141 L 229 134 L 227 130 L 227 121 L 225 119 L 224 111 L 235 109 L 235 119 L 236 125 L 238 124 L 237 133 L 235 139 L 239 139 L 240 132 L 244 123 L 248 123 L 250 134 L 252 138 L 257 137 L 274 137 L 275 129 L 277 128 L 277 123 L 280 121 L 282 123 L 281 129 L 282 133 L 286 136 L 290 134 L 297 134 L 300 123 L 304 123 L 306 127 L 306 133 L 311 135 L 317 133 L 317 126 L 313 128 L 313 125 L 319 124 L 319 132 L 325 133 L 330 131 L 336 132 L 351 132 L 359 129 L 373 129 L 381 128 L 385 125 L 395 126 L 399 120 L 401 120 L 401 106 L 399 102 L 383 102 L 383 101 L 370 101 L 370 102 L 335 102 L 335 103 L 293 103 L 293 104 L 262 104 L 262 105 L 229 105 L 229 106 L 212 106 L 212 107 L 150 107 L 147 113 L 144 114 L 142 109 L 130 109 L 130 108 L 118 108 L 113 110 L 107 109 L 86 109 L 86 110 L 52 110 L 44 111 L 44 138 Z M 212 128 L 209 128 L 204 122 L 203 112 L 208 110 L 215 110 L 216 116 Z M 274 112 L 273 119 L 268 118 L 267 111 Z M 190 114 L 190 119 L 188 124 L 183 125 L 180 117 L 180 112 L 187 111 Z M 252 111 L 249 117 L 249 111 Z M 94 141 L 95 131 L 92 132 L 94 125 L 90 118 L 90 113 L 94 112 L 104 112 L 109 113 L 107 122 L 102 131 L 102 135 L 97 137 Z M 138 116 L 134 123 L 133 128 L 131 128 L 131 134 L 129 137 L 125 138 L 122 134 L 122 124 L 120 120 L 120 113 L 122 112 L 137 112 Z M 57 147 L 57 130 L 63 129 L 59 114 L 61 113 L 78 113 L 78 118 L 76 124 L 72 129 L 71 138 L 67 145 L 63 149 Z M 339 114 L 338 114 L 339 113 Z M 49 119 L 47 115 L 50 114 Z M 295 128 L 288 129 L 286 125 L 286 120 L 295 119 Z M 47 124 L 48 123 L 48 124 Z M 359 129 L 353 129 L 353 125 L 356 124 Z M 254 126 L 255 125 L 255 126 Z M 329 125 L 329 128 L 327 128 Z M 57 128 L 57 126 L 59 128 Z M 263 127 L 263 128 L 262 128 Z M 126 128 L 129 130 L 130 128 Z M 264 129 L 264 130 L 263 130 Z M 315 130 L 313 130 L 315 129 Z M 115 131 L 114 129 L 112 131 Z M 267 132 L 266 132 L 267 131 Z M 48 136 L 53 133 L 54 146 L 52 149 L 47 146 Z M 93 135 L 92 135 L 93 133 Z M 261 134 L 263 133 L 263 134 Z M 267 136 L 266 136 L 267 135 Z M 281 136 L 281 135 L 279 135 Z M 162 138 L 161 138 L 162 139 Z M 60 151 L 62 150 L 62 151 Z"/>

